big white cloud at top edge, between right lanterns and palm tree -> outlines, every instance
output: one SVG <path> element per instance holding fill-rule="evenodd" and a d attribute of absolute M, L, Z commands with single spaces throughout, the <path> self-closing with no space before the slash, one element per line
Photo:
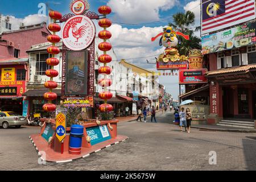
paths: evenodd
<path fill-rule="evenodd" d="M 108 6 L 115 13 L 114 20 L 125 23 L 144 23 L 159 20 L 159 11 L 167 11 L 176 0 L 109 0 Z"/>

